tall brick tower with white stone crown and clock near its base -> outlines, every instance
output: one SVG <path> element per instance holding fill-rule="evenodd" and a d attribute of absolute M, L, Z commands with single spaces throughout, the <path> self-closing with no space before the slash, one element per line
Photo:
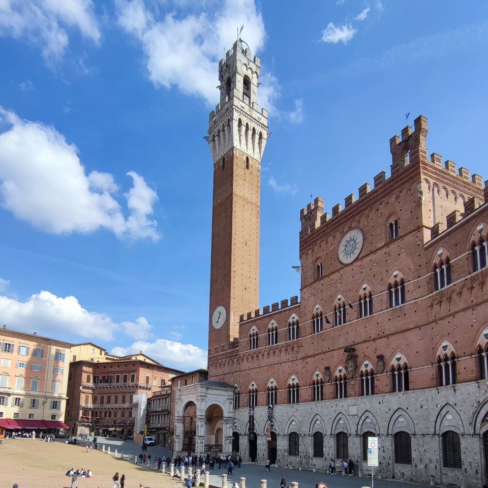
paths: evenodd
<path fill-rule="evenodd" d="M 238 337 L 239 315 L 259 306 L 261 157 L 267 111 L 258 107 L 260 59 L 238 39 L 219 63 L 220 103 L 209 116 L 214 160 L 209 355 Z"/>

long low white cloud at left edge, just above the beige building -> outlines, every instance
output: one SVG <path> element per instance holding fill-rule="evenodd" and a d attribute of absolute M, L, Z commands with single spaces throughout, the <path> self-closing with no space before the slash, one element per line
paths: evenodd
<path fill-rule="evenodd" d="M 40 335 L 68 333 L 107 341 L 114 338 L 116 331 L 124 331 L 134 339 L 152 336 L 152 326 L 144 317 L 119 324 L 105 314 L 89 312 L 74 296 L 59 297 L 45 290 L 25 301 L 0 295 L 0 316 L 8 328 L 28 332 L 28 327 Z"/>

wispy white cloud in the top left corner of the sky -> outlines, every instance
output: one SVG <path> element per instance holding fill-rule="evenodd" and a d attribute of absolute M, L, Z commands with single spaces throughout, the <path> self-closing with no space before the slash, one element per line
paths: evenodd
<path fill-rule="evenodd" d="M 68 27 L 95 43 L 100 41 L 92 0 L 0 1 L 0 36 L 39 45 L 46 60 L 53 61 L 65 53 Z"/>

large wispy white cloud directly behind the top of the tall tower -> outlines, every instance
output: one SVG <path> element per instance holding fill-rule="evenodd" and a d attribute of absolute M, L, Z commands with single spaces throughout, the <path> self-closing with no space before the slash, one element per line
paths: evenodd
<path fill-rule="evenodd" d="M 264 45 L 265 31 L 254 2 L 225 0 L 219 10 L 178 16 L 150 12 L 143 0 L 117 0 L 119 25 L 142 44 L 149 79 L 156 86 L 176 85 L 181 92 L 202 97 L 209 106 L 219 100 L 218 63 L 224 47 L 232 47 L 236 27 L 253 51 Z M 262 106 L 265 106 L 262 104 Z M 267 107 L 266 107 L 267 108 Z"/>

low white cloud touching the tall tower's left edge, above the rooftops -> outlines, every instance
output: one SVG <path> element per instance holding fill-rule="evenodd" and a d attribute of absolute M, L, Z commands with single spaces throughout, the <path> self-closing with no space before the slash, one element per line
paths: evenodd
<path fill-rule="evenodd" d="M 192 370 L 207 367 L 206 349 L 167 339 L 157 339 L 154 342 L 137 341 L 128 347 L 114 347 L 111 352 L 119 356 L 126 356 L 139 351 L 164 365 L 177 369 Z"/>

